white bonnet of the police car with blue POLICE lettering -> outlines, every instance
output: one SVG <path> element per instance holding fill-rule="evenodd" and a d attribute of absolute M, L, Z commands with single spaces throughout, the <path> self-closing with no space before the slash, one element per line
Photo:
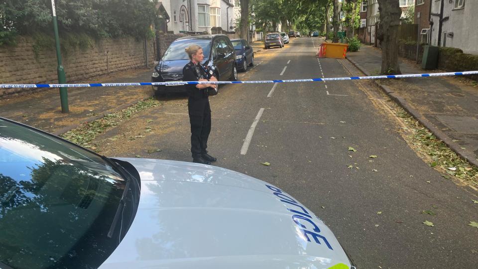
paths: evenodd
<path fill-rule="evenodd" d="M 329 228 L 264 181 L 211 165 L 119 159 L 139 172 L 140 201 L 103 269 L 350 268 Z"/>

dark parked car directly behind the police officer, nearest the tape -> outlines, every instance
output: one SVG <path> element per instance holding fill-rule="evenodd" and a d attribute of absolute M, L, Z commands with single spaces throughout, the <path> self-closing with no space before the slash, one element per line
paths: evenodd
<path fill-rule="evenodd" d="M 183 68 L 190 61 L 185 48 L 197 44 L 203 48 L 202 64 L 212 67 L 219 81 L 238 80 L 236 51 L 225 34 L 196 35 L 181 37 L 166 49 L 163 58 L 154 68 L 152 82 L 182 81 Z M 156 96 L 171 92 L 185 92 L 186 84 L 174 86 L 153 86 Z"/>

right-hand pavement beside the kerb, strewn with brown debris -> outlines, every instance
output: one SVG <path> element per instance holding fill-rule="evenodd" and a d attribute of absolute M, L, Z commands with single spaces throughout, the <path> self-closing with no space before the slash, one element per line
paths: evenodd
<path fill-rule="evenodd" d="M 378 75 L 381 50 L 363 45 L 347 59 L 366 76 Z M 445 72 L 424 70 L 400 58 L 402 74 Z M 478 166 L 478 85 L 461 77 L 375 80 L 395 102 L 459 155 Z"/>

